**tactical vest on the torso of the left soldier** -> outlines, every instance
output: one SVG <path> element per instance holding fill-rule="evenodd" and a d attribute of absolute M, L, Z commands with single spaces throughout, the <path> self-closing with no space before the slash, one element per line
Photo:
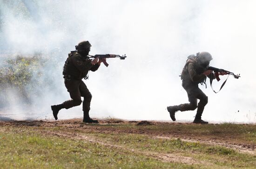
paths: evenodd
<path fill-rule="evenodd" d="M 62 74 L 64 75 L 64 78 L 67 76 L 70 76 L 69 78 L 75 78 L 75 79 L 82 79 L 83 77 L 85 77 L 86 75 L 84 75 L 85 73 L 87 74 L 87 72 L 81 72 L 79 71 L 71 62 L 71 58 L 74 55 L 80 55 L 79 53 L 77 53 L 76 51 L 71 51 L 70 53 L 68 53 L 68 57 L 67 60 L 63 66 L 63 72 Z M 80 55 L 81 56 L 81 55 Z"/>

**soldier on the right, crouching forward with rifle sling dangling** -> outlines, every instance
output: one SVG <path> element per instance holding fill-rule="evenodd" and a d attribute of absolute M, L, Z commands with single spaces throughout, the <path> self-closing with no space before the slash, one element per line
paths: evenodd
<path fill-rule="evenodd" d="M 193 123 L 208 123 L 201 119 L 204 106 L 208 103 L 208 97 L 198 88 L 199 83 L 205 83 L 206 78 L 215 78 L 212 71 L 207 70 L 212 56 L 209 52 L 197 53 L 197 56 L 190 55 L 186 61 L 186 64 L 182 70 L 182 87 L 187 91 L 189 97 L 189 104 L 180 104 L 175 106 L 168 106 L 167 110 L 170 113 L 170 117 L 175 121 L 175 112 L 195 110 L 195 120 Z M 219 72 L 220 75 L 225 75 L 225 72 Z M 200 102 L 197 104 L 197 99 Z"/>

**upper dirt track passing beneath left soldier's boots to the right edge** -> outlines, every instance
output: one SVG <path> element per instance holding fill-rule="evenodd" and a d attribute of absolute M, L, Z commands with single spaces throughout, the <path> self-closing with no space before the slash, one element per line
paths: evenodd
<path fill-rule="evenodd" d="M 159 133 L 156 131 L 152 130 L 138 130 L 138 129 L 116 129 L 115 127 L 109 127 L 109 128 L 104 128 L 105 124 L 111 124 L 111 123 L 117 123 L 117 121 L 109 121 L 109 120 L 100 120 L 101 126 L 97 125 L 87 125 L 86 123 L 80 123 L 78 122 L 79 119 L 72 119 L 72 120 L 61 120 L 61 121 L 10 121 L 10 122 L 0 122 L 0 125 L 11 125 L 11 126 L 34 126 L 34 127 L 63 127 L 67 130 L 83 130 L 83 131 L 95 131 L 95 132 L 101 132 L 101 133 L 128 133 L 128 134 L 141 134 L 145 136 L 151 136 L 155 138 L 162 138 L 162 139 L 176 139 L 176 138 L 181 138 L 182 141 L 186 142 L 199 142 L 199 143 L 204 143 L 208 145 L 213 145 L 213 146 L 223 146 L 226 148 L 230 148 L 233 150 L 237 150 L 241 153 L 247 153 L 250 155 L 256 155 L 256 145 L 248 145 L 248 144 L 238 144 L 238 143 L 228 143 L 227 141 L 224 142 L 219 139 L 211 139 L 209 138 L 208 140 L 204 138 L 195 138 L 192 136 L 187 137 L 184 136 L 184 134 L 179 134 L 179 133 Z M 137 123 L 137 121 L 133 121 L 132 123 Z M 129 123 L 128 121 L 118 121 L 118 123 Z M 162 122 L 154 122 L 154 123 L 159 123 L 162 124 Z"/>

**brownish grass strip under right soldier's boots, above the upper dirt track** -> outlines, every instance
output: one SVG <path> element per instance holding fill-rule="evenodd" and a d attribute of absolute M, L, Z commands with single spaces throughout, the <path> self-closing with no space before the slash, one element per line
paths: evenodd
<path fill-rule="evenodd" d="M 222 124 L 173 124 L 163 123 L 157 125 L 137 126 L 128 124 L 111 124 L 101 126 L 102 129 L 108 130 L 115 126 L 116 130 L 141 130 L 154 132 L 156 135 L 177 134 L 184 136 L 192 136 L 197 138 L 209 138 L 229 140 L 237 144 L 252 144 L 256 145 L 256 125 L 254 124 L 235 124 L 235 123 L 222 123 Z"/>

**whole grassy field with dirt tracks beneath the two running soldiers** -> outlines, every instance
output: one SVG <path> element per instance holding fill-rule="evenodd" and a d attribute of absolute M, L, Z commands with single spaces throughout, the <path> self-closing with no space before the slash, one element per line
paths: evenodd
<path fill-rule="evenodd" d="M 0 121 L 0 168 L 256 168 L 256 125 Z"/>

